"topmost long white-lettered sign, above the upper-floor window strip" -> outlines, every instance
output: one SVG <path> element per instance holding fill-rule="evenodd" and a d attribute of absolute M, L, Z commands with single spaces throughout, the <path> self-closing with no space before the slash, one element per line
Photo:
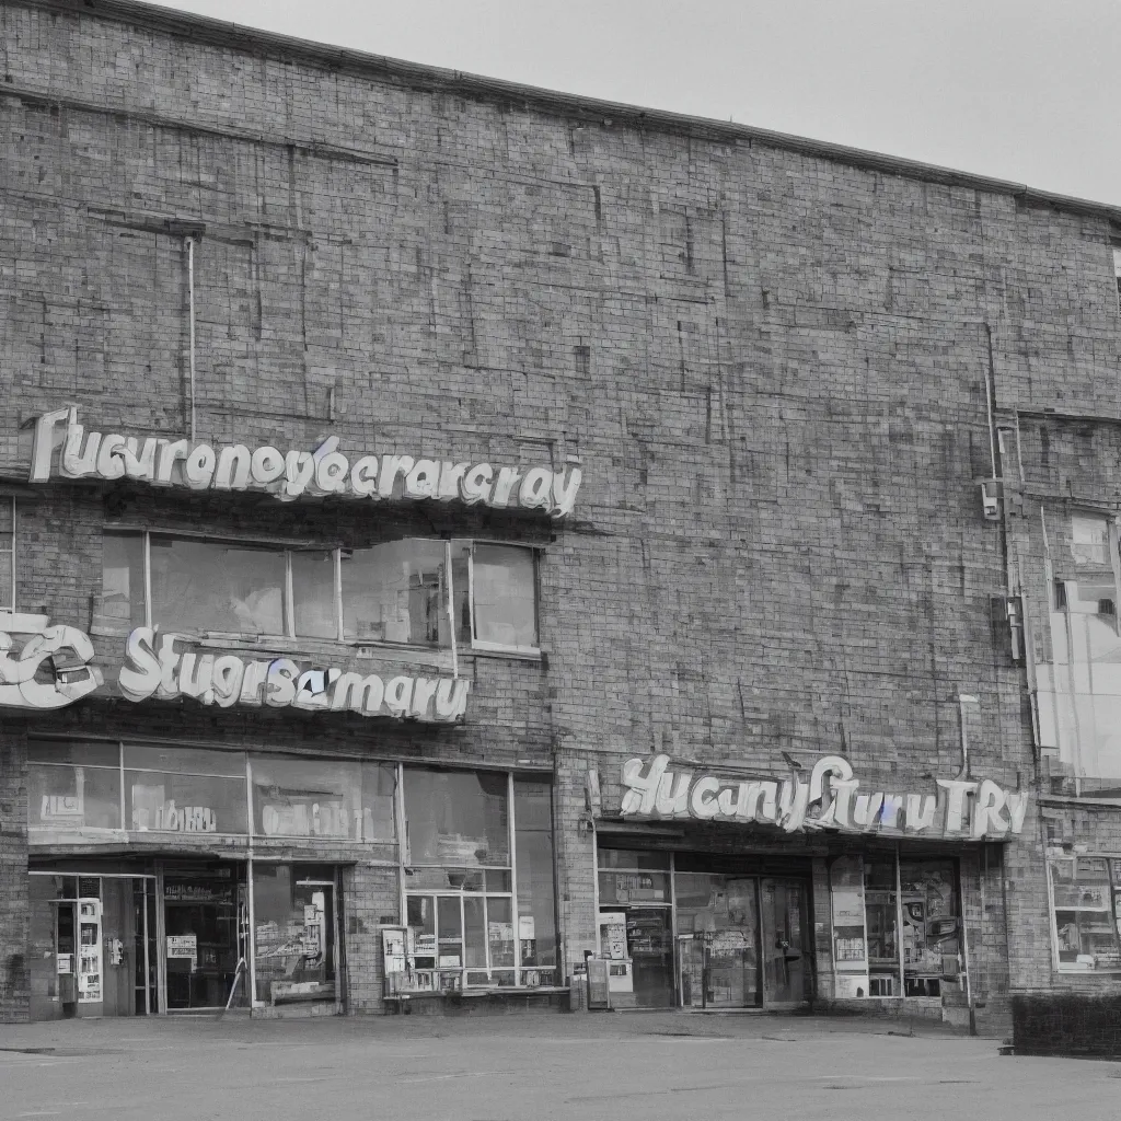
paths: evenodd
<path fill-rule="evenodd" d="M 77 408 L 45 413 L 35 421 L 31 482 L 52 473 L 63 479 L 132 479 L 154 487 L 189 490 L 263 491 L 281 501 L 300 495 L 458 500 L 495 509 L 571 513 L 580 490 L 580 467 L 495 467 L 411 455 L 362 455 L 353 462 L 332 436 L 313 451 L 245 444 L 191 443 L 163 436 L 102 435 L 77 423 Z"/>

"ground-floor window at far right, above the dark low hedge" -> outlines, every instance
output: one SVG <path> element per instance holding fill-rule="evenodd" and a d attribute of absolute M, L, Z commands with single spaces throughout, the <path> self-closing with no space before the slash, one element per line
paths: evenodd
<path fill-rule="evenodd" d="M 1121 860 L 1049 861 L 1058 967 L 1121 971 Z"/>

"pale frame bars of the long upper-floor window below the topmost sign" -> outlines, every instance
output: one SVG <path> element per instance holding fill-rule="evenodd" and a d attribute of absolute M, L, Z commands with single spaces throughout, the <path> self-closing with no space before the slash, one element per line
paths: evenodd
<path fill-rule="evenodd" d="M 15 503 L 15 499 L 12 500 Z M 443 541 L 445 546 L 445 560 L 444 567 L 446 568 L 445 580 L 444 580 L 444 595 L 442 610 L 448 613 L 451 618 L 451 640 L 446 646 L 430 646 L 424 642 L 393 642 L 387 639 L 348 639 L 345 637 L 345 604 L 344 604 L 344 592 L 343 592 L 343 575 L 342 575 L 342 555 L 343 549 L 349 548 L 340 544 L 325 544 L 325 543 L 294 543 L 294 541 L 281 541 L 270 538 L 254 538 L 254 537 L 228 537 L 224 535 L 205 534 L 192 530 L 164 530 L 164 529 L 148 529 L 148 528 L 136 528 L 130 526 L 105 526 L 102 530 L 103 539 L 109 536 L 118 537 L 139 537 L 141 538 L 141 555 L 143 564 L 143 626 L 152 627 L 156 623 L 152 613 L 152 578 L 151 578 L 151 544 L 152 538 L 157 539 L 169 539 L 169 540 L 189 540 L 189 541 L 201 541 L 204 544 L 217 545 L 217 546 L 230 546 L 240 547 L 245 549 L 259 548 L 262 550 L 271 549 L 274 552 L 279 552 L 284 555 L 284 583 L 282 583 L 282 605 L 281 614 L 284 620 L 284 632 L 282 633 L 269 633 L 269 632 L 249 632 L 249 631 L 217 631 L 217 630 L 202 630 L 200 631 L 201 637 L 204 639 L 228 639 L 228 640 L 279 640 L 285 642 L 335 642 L 341 646 L 348 647 L 379 647 L 388 649 L 404 649 L 404 650 L 426 650 L 426 651 L 451 651 L 453 658 L 457 656 L 460 641 L 457 638 L 460 630 L 460 621 L 455 617 L 455 577 L 452 569 L 452 549 L 455 546 L 465 546 L 464 553 L 466 556 L 466 578 L 467 578 L 467 633 L 470 638 L 470 645 L 467 650 L 470 652 L 478 654 L 497 654 L 507 655 L 512 657 L 522 658 L 540 658 L 540 553 L 541 548 L 537 545 L 527 545 L 524 541 L 509 541 L 509 540 L 491 540 L 491 539 L 476 539 L 470 537 L 456 537 L 456 538 L 438 538 L 438 537 L 404 537 L 396 538 L 395 540 L 400 541 Z M 15 539 L 15 536 L 13 536 Z M 378 544 L 392 544 L 390 541 L 378 543 Z M 525 549 L 529 554 L 530 563 L 532 565 L 532 608 L 534 608 L 534 630 L 537 636 L 537 642 L 532 646 L 510 646 L 502 642 L 490 642 L 484 639 L 476 638 L 476 609 L 475 609 L 475 585 L 474 585 L 474 566 L 475 566 L 475 550 L 479 546 L 497 546 L 501 548 L 518 548 Z M 377 546 L 369 546 L 370 548 L 376 548 Z M 297 553 L 305 552 L 317 552 L 317 553 L 330 553 L 332 555 L 332 582 L 333 582 L 333 608 L 334 608 L 334 623 L 335 633 L 333 637 L 327 638 L 323 636 L 306 636 L 297 633 L 296 629 L 296 601 L 295 601 L 295 587 L 293 581 L 293 557 Z M 12 583 L 15 584 L 15 555 L 12 560 Z M 103 617 L 104 618 L 104 617 Z M 131 622 L 127 624 L 131 628 Z M 102 628 L 109 632 L 118 633 L 123 632 L 123 628 L 120 627 L 117 621 L 103 622 Z"/>

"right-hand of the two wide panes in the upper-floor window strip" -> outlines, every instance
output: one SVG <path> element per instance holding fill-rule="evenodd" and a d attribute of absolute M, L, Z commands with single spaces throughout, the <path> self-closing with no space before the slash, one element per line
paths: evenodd
<path fill-rule="evenodd" d="M 450 643 L 443 541 L 408 538 L 343 549 L 341 565 L 348 642 Z"/>

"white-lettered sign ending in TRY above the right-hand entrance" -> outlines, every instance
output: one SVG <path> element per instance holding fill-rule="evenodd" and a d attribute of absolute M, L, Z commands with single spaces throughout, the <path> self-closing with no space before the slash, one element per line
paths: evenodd
<path fill-rule="evenodd" d="M 958 840 L 1000 840 L 1019 833 L 1027 791 L 992 779 L 937 779 L 937 794 L 860 793 L 842 756 L 818 759 L 809 782 L 797 778 L 736 781 L 671 770 L 668 756 L 623 763 L 621 814 L 648 821 L 757 822 L 787 833 L 835 830 Z"/>

